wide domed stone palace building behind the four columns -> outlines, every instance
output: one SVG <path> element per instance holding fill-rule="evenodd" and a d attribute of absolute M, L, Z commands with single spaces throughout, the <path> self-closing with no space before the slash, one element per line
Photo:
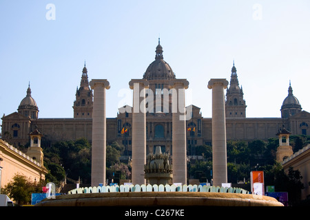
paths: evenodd
<path fill-rule="evenodd" d="M 163 100 L 164 89 L 169 89 L 169 82 L 176 79 L 172 67 L 163 59 L 163 47 L 158 41 L 155 60 L 149 64 L 143 80 L 149 83 L 149 89 L 154 91 L 155 98 Z M 76 89 L 76 99 L 73 103 L 73 118 L 39 118 L 39 106 L 31 96 L 30 86 L 26 96 L 21 100 L 17 112 L 3 115 L 1 138 L 14 146 L 25 145 L 30 142 L 29 133 L 39 129 L 44 139 L 51 142 L 59 140 L 76 140 L 81 137 L 92 142 L 92 108 L 93 91 L 90 89 L 87 68 L 84 65 L 81 85 Z M 170 96 L 169 96 L 170 97 Z M 161 146 L 163 153 L 172 152 L 172 99 L 168 105 L 161 102 L 161 106 L 154 107 L 154 111 L 146 113 L 146 152 L 154 152 L 156 146 Z M 195 155 L 191 146 L 212 144 L 211 118 L 203 118 L 200 108 L 194 105 L 192 117 L 187 120 L 187 155 Z M 132 110 L 132 107 L 125 106 Z M 247 105 L 243 98 L 242 87 L 239 86 L 237 69 L 231 68 L 230 83 L 227 87 L 225 100 L 225 115 L 227 140 L 267 140 L 276 137 L 283 124 L 292 135 L 309 135 L 310 113 L 302 111 L 298 99 L 293 96 L 291 84 L 288 96 L 279 107 L 280 118 L 247 118 Z M 107 144 L 114 141 L 125 146 L 125 155 L 132 153 L 132 111 L 119 111 L 116 118 L 107 118 Z"/>

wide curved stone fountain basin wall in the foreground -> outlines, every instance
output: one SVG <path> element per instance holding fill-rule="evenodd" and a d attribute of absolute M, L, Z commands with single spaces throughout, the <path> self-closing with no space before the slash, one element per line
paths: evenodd
<path fill-rule="evenodd" d="M 35 206 L 283 206 L 273 197 L 229 192 L 96 192 L 59 195 Z"/>

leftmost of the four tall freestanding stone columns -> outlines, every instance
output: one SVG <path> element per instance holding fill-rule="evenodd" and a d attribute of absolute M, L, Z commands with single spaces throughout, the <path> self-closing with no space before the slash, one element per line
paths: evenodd
<path fill-rule="evenodd" d="M 107 80 L 91 80 L 90 87 L 94 89 L 92 109 L 92 186 L 105 186 L 106 166 L 106 118 L 105 89 L 110 89 Z"/>

